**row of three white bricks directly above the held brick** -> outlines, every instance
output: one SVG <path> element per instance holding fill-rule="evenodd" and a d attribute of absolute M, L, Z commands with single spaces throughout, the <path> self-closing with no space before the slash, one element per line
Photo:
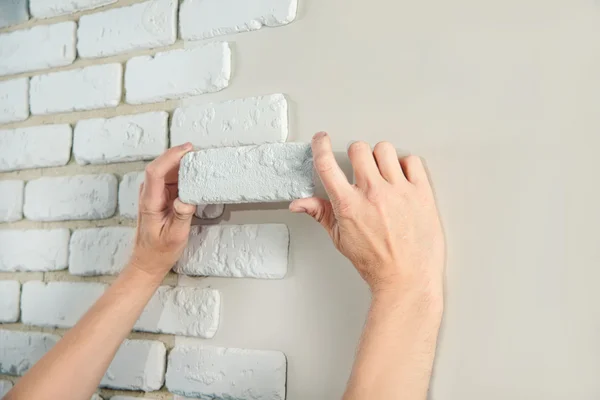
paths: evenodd
<path fill-rule="evenodd" d="M 71 150 L 78 164 L 150 160 L 171 146 L 200 148 L 285 142 L 288 103 L 284 95 L 249 97 L 176 108 L 167 112 L 94 118 L 70 125 L 0 130 L 0 172 L 62 166 Z"/>

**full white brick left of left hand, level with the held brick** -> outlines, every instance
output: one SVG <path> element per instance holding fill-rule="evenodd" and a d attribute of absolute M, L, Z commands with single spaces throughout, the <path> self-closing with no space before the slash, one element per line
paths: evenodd
<path fill-rule="evenodd" d="M 110 218 L 117 209 L 112 174 L 43 177 L 25 185 L 23 213 L 33 221 Z"/>

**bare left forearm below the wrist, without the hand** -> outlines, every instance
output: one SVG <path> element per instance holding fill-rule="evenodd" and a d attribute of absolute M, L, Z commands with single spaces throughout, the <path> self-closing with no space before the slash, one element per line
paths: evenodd
<path fill-rule="evenodd" d="M 158 277 L 128 266 L 6 400 L 90 398 L 158 285 Z"/>

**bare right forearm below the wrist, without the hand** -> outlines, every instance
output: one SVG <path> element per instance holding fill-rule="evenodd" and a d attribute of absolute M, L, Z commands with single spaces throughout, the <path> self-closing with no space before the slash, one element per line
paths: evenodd
<path fill-rule="evenodd" d="M 425 400 L 441 315 L 441 296 L 375 294 L 343 399 Z"/>

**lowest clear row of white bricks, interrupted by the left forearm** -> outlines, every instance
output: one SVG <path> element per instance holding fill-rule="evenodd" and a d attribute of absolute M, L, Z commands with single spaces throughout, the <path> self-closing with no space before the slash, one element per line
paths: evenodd
<path fill-rule="evenodd" d="M 56 335 L 0 330 L 0 373 L 22 375 L 58 342 Z M 166 372 L 165 372 L 166 370 Z M 154 340 L 125 340 L 100 387 L 169 392 L 218 399 L 285 399 L 287 360 L 272 350 L 175 345 L 169 351 Z M 218 379 L 215 379 L 218 377 Z M 114 399 L 114 397 L 113 397 Z"/>

